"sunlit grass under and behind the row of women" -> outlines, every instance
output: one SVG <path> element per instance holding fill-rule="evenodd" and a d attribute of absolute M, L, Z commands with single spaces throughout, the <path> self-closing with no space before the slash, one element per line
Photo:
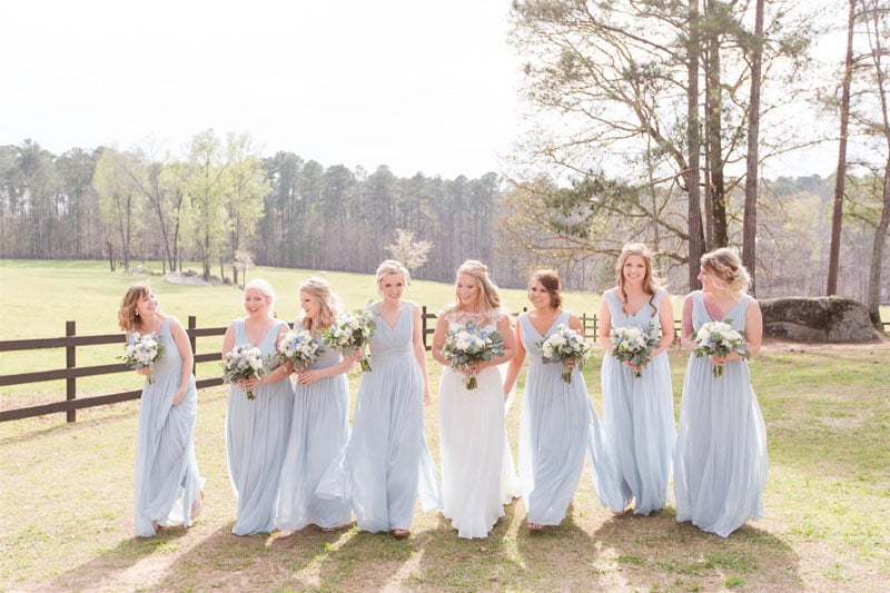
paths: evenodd
<path fill-rule="evenodd" d="M 18 265 L 0 265 L 2 339 L 14 325 L 9 323 L 16 317 L 7 309 L 11 299 L 6 280 Z M 17 269 L 24 268 L 33 269 Z M 82 269 L 66 276 L 63 268 L 65 264 L 60 278 L 83 281 Z M 279 297 L 288 281 L 296 287 L 309 275 L 261 271 Z M 273 277 L 276 273 L 281 276 Z M 131 278 L 119 280 L 109 273 L 102 277 L 101 268 L 89 269 L 90 275 L 101 278 L 95 291 L 79 293 L 69 309 L 77 316 L 60 319 L 63 324 L 65 318 L 77 318 L 79 327 L 92 328 L 83 333 L 113 332 L 113 313 Z M 349 278 L 342 278 L 342 290 L 334 275 L 328 277 L 346 300 Z M 112 281 L 120 284 L 99 288 Z M 216 305 L 219 320 L 200 322 L 201 326 L 224 325 L 241 314 L 236 288 L 212 287 L 219 290 L 216 296 L 199 300 L 194 295 L 204 288 L 181 287 L 180 293 L 178 286 L 155 284 L 165 308 L 180 317 L 188 314 L 185 305 L 202 307 L 200 319 L 215 299 L 225 300 Z M 432 304 L 425 298 L 434 293 L 418 296 L 422 284 L 412 298 Z M 352 297 L 354 305 L 373 298 L 373 289 L 370 280 L 369 296 Z M 441 304 L 453 297 L 448 285 L 432 289 L 442 293 Z M 91 309 L 101 320 L 79 313 L 92 307 L 80 308 L 88 294 L 93 300 L 105 299 L 103 306 Z M 67 298 L 65 287 L 49 281 L 43 295 Z M 34 307 L 44 306 L 34 300 L 39 293 L 26 296 Z M 524 290 L 516 296 L 524 298 Z M 521 308 L 520 298 L 508 305 Z M 60 306 L 46 305 L 46 310 Z M 179 313 L 180 306 L 186 313 Z M 571 300 L 570 307 L 592 312 Z M 21 312 L 17 315 L 26 319 Z M 50 329 L 32 335 L 60 334 Z M 678 413 L 685 362 L 680 350 L 671 353 Z M 426 408 L 426 429 L 437 459 L 439 367 L 431 362 L 429 368 L 434 402 Z M 63 414 L 3 423 L 0 590 L 882 591 L 890 580 L 888 368 L 887 343 L 765 348 L 752 365 L 769 436 L 765 516 L 728 540 L 678 524 L 673 504 L 650 517 L 613 517 L 596 502 L 586 473 L 570 516 L 558 528 L 541 534 L 527 533 L 525 510 L 516 502 L 486 540 L 459 540 L 439 515 L 419 510 L 407 541 L 355 528 L 329 534 L 312 527 L 236 537 L 230 533 L 235 501 L 225 459 L 222 388 L 200 393 L 196 446 L 201 474 L 208 478 L 204 514 L 190 530 L 171 528 L 142 540 L 132 536 L 131 516 L 138 403 L 81 411 L 73 425 L 65 424 Z M 585 368 L 589 391 L 601 409 L 599 372 L 599 360 Z M 8 373 L 6 366 L 2 373 Z M 112 377 L 126 388 L 139 384 L 131 373 Z M 350 375 L 353 394 L 358 380 L 357 373 Z M 514 449 L 520 399 L 507 416 Z"/>

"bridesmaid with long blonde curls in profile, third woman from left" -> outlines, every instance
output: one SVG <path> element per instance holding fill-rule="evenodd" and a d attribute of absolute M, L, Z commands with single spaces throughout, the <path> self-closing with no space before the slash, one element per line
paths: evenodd
<path fill-rule="evenodd" d="M 309 278 L 299 287 L 303 319 L 317 342 L 336 322 L 338 299 L 323 278 Z M 297 373 L 294 419 L 287 439 L 277 526 L 299 531 L 314 524 L 334 531 L 352 520 L 348 497 L 330 498 L 316 492 L 329 467 L 342 461 L 349 441 L 349 383 L 346 373 L 355 357 L 323 346 L 317 360 Z"/>

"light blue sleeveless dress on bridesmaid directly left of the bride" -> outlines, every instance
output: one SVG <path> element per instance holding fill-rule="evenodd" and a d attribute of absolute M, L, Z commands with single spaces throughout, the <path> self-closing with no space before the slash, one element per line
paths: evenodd
<path fill-rule="evenodd" d="M 362 375 L 348 466 L 353 510 L 367 532 L 407 530 L 419 491 L 424 511 L 439 507 L 438 477 L 424 429 L 424 380 L 414 356 L 415 303 L 389 327 L 375 305 L 374 369 Z"/>

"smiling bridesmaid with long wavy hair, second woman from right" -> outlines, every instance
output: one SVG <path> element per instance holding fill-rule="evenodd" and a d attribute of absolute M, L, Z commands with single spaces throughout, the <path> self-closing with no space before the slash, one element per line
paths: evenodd
<path fill-rule="evenodd" d="M 674 339 L 674 319 L 668 291 L 652 274 L 652 255 L 645 245 L 627 244 L 615 266 L 617 286 L 603 294 L 600 307 L 600 345 L 603 357 L 603 423 L 615 453 L 626 506 L 649 515 L 668 504 L 668 481 L 676 441 L 674 394 L 666 350 Z M 641 368 L 612 356 L 610 334 L 615 327 L 635 326 L 661 338 L 650 362 Z M 642 372 L 635 377 L 635 372 Z"/>

